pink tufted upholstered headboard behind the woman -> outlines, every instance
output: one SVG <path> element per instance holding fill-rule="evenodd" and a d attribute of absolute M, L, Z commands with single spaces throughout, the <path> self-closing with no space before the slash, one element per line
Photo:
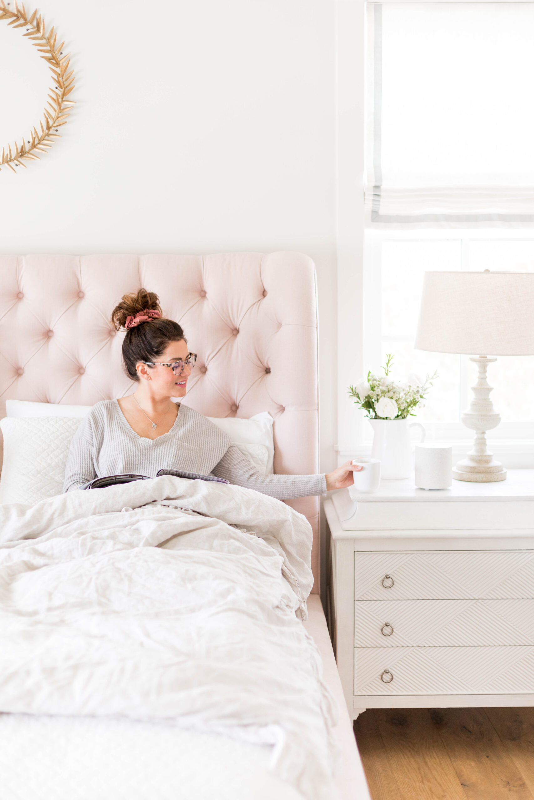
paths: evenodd
<path fill-rule="evenodd" d="M 275 472 L 319 470 L 317 292 L 299 253 L 0 256 L 0 418 L 8 398 L 91 405 L 128 394 L 110 313 L 145 286 L 199 354 L 184 402 L 211 417 L 275 418 Z M 319 498 L 291 506 L 314 530 Z"/>

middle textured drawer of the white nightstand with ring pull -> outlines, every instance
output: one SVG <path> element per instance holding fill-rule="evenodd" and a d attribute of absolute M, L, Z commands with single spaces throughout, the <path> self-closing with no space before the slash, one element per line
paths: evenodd
<path fill-rule="evenodd" d="M 534 600 L 359 600 L 356 647 L 534 645 Z"/>

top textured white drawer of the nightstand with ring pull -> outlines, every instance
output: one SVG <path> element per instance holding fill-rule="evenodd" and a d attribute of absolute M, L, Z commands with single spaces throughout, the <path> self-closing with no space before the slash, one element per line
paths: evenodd
<path fill-rule="evenodd" d="M 355 600 L 534 598 L 534 550 L 355 553 Z"/>

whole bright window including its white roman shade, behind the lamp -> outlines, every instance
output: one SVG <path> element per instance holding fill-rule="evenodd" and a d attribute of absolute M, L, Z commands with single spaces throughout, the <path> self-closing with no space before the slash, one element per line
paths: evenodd
<path fill-rule="evenodd" d="M 364 363 L 438 371 L 417 414 L 433 438 L 472 438 L 476 366 L 414 349 L 424 272 L 534 271 L 533 40 L 532 2 L 367 4 Z M 534 439 L 534 357 L 488 380 L 490 438 Z"/>

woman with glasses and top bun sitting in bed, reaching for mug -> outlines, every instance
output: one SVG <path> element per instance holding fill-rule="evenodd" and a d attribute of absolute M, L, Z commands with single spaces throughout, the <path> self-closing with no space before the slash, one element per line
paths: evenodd
<path fill-rule="evenodd" d="M 162 316 L 157 294 L 125 294 L 111 321 L 126 329 L 122 359 L 137 388 L 98 402 L 83 420 L 70 445 L 63 491 L 104 475 L 155 475 L 164 468 L 214 474 L 280 500 L 351 485 L 352 472 L 361 469 L 351 462 L 326 475 L 260 474 L 203 414 L 173 402 L 186 394 L 196 355 L 178 322 Z"/>

